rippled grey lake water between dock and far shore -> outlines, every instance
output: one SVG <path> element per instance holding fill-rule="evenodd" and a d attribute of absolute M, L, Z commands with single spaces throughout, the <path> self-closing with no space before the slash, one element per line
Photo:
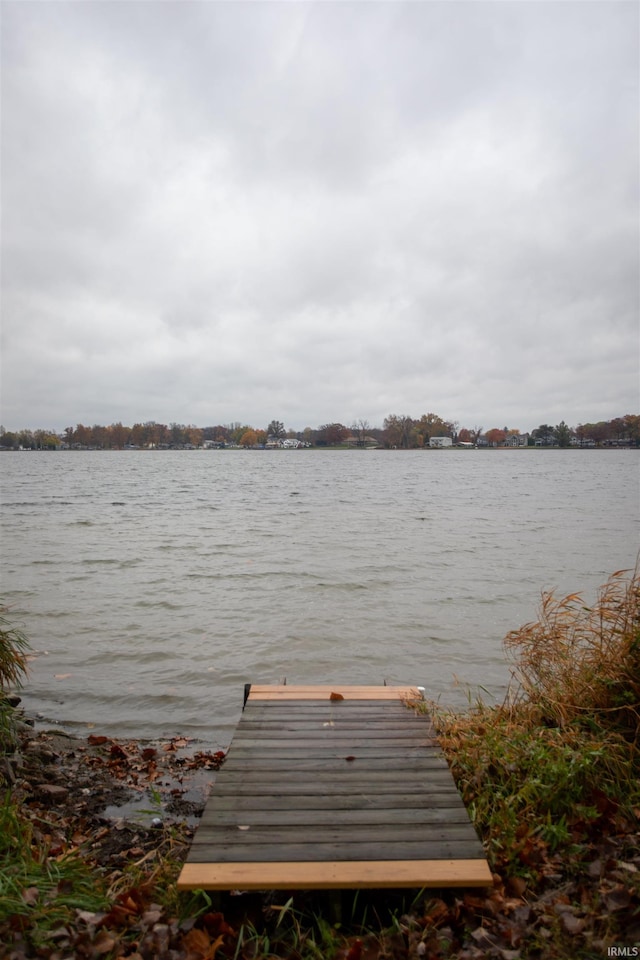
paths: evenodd
<path fill-rule="evenodd" d="M 226 747 L 243 686 L 501 699 L 543 589 L 632 567 L 633 450 L 6 453 L 2 596 L 26 708 Z"/>

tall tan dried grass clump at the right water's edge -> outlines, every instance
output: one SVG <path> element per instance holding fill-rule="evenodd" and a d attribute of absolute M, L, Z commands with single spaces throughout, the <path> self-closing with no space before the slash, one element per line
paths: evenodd
<path fill-rule="evenodd" d="M 518 699 L 546 723 L 586 721 L 640 740 L 640 569 L 618 570 L 585 606 L 542 594 L 540 619 L 507 634 Z"/>

